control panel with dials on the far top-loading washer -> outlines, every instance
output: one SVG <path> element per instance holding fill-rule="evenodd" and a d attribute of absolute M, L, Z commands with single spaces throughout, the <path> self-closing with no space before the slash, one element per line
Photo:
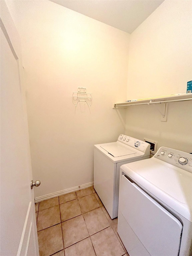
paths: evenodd
<path fill-rule="evenodd" d="M 138 149 L 146 154 L 148 154 L 148 151 L 149 151 L 149 155 L 150 155 L 151 145 L 143 140 L 138 140 L 136 138 L 121 134 L 119 135 L 118 141 L 124 143 L 127 146 L 131 146 L 135 149 Z"/>

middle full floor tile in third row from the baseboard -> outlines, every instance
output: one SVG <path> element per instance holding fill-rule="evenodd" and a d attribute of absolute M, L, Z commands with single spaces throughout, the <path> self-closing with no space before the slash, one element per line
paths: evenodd
<path fill-rule="evenodd" d="M 89 236 L 82 215 L 62 222 L 64 248 Z"/>

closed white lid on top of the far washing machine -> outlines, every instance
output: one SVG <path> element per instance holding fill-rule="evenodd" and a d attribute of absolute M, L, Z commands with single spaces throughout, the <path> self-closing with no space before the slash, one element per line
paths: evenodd
<path fill-rule="evenodd" d="M 103 145 L 101 146 L 101 148 L 105 149 L 110 155 L 113 155 L 113 157 L 136 154 L 135 151 L 128 149 L 117 143 Z"/>

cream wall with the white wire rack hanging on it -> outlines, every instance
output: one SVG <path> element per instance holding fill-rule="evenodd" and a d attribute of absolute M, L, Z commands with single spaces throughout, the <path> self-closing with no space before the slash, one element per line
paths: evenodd
<path fill-rule="evenodd" d="M 53 2 L 7 4 L 22 40 L 35 196 L 92 182 L 93 145 L 125 133 L 112 104 L 126 99 L 130 35 Z M 92 93 L 91 114 L 75 114 L 78 87 Z"/>

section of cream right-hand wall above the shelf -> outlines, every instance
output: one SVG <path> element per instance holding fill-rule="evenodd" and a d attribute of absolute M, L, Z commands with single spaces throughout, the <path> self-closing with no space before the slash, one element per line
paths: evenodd
<path fill-rule="evenodd" d="M 166 0 L 131 34 L 127 100 L 186 92 L 192 78 L 191 5 Z"/>

